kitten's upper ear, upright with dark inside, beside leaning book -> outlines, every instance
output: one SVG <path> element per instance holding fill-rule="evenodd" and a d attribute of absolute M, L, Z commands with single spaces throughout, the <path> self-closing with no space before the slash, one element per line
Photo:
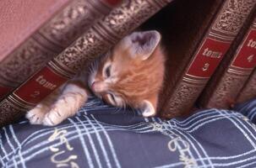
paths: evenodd
<path fill-rule="evenodd" d="M 147 60 L 160 43 L 161 34 L 155 30 L 134 32 L 123 39 L 129 54 L 139 60 Z"/>

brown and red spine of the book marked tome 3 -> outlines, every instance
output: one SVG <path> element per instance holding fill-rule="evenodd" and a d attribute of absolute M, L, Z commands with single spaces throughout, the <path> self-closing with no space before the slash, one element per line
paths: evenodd
<path fill-rule="evenodd" d="M 166 98 L 162 117 L 173 118 L 190 113 L 194 102 L 226 54 L 255 3 L 255 0 L 224 1 L 186 70 Z"/>

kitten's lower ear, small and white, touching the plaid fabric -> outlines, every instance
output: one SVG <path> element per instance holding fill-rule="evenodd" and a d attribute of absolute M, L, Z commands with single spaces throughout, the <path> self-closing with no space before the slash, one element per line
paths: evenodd
<path fill-rule="evenodd" d="M 156 103 L 157 103 L 156 97 L 152 97 L 142 102 L 141 108 L 142 108 L 142 115 L 144 118 L 155 116 Z"/>

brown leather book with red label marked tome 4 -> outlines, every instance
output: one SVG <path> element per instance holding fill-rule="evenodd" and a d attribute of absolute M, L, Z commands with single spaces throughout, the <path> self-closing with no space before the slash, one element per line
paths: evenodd
<path fill-rule="evenodd" d="M 248 18 L 199 97 L 200 108 L 231 108 L 256 65 L 256 18 Z"/>

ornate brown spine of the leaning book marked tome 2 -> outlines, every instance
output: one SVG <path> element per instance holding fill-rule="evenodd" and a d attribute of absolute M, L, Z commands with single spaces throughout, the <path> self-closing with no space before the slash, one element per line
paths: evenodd
<path fill-rule="evenodd" d="M 0 102 L 0 126 L 13 122 L 25 114 L 25 111 L 35 107 L 36 103 L 73 77 L 84 64 L 106 52 L 123 36 L 170 2 L 172 0 L 129 0 L 112 10 Z"/>

